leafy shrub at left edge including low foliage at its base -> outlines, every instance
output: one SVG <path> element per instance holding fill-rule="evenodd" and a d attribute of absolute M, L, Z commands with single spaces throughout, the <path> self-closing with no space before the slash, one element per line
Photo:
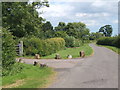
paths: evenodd
<path fill-rule="evenodd" d="M 15 57 L 16 48 L 13 36 L 6 29 L 2 29 L 2 76 L 21 71 L 21 66 L 15 63 Z"/>

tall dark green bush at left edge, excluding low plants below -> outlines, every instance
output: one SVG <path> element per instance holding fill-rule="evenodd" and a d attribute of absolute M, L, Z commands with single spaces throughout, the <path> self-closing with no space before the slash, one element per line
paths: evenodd
<path fill-rule="evenodd" d="M 3 29 L 2 32 L 2 67 L 4 70 L 10 70 L 15 63 L 15 41 L 9 31 Z"/>

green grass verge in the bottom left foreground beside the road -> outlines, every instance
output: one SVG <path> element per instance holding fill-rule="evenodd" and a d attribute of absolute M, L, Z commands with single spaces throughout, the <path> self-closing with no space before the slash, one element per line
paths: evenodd
<path fill-rule="evenodd" d="M 10 85 L 24 79 L 23 84 L 17 88 L 40 88 L 50 83 L 49 78 L 54 75 L 52 68 L 40 68 L 27 64 L 23 64 L 23 66 L 22 72 L 12 76 L 4 76 L 2 85 Z"/>

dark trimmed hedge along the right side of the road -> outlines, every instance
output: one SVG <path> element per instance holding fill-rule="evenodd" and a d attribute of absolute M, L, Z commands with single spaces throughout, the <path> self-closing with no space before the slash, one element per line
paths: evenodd
<path fill-rule="evenodd" d="M 100 38 L 97 41 L 97 44 L 99 44 L 99 45 L 108 45 L 108 46 L 115 46 L 115 47 L 120 48 L 120 36 Z"/>

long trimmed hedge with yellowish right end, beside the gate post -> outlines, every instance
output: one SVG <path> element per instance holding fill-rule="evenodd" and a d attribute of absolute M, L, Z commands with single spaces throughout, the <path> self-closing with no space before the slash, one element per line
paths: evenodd
<path fill-rule="evenodd" d="M 41 40 L 36 37 L 24 38 L 24 55 L 40 54 L 41 56 L 50 55 L 65 48 L 63 38 L 50 38 Z"/>

